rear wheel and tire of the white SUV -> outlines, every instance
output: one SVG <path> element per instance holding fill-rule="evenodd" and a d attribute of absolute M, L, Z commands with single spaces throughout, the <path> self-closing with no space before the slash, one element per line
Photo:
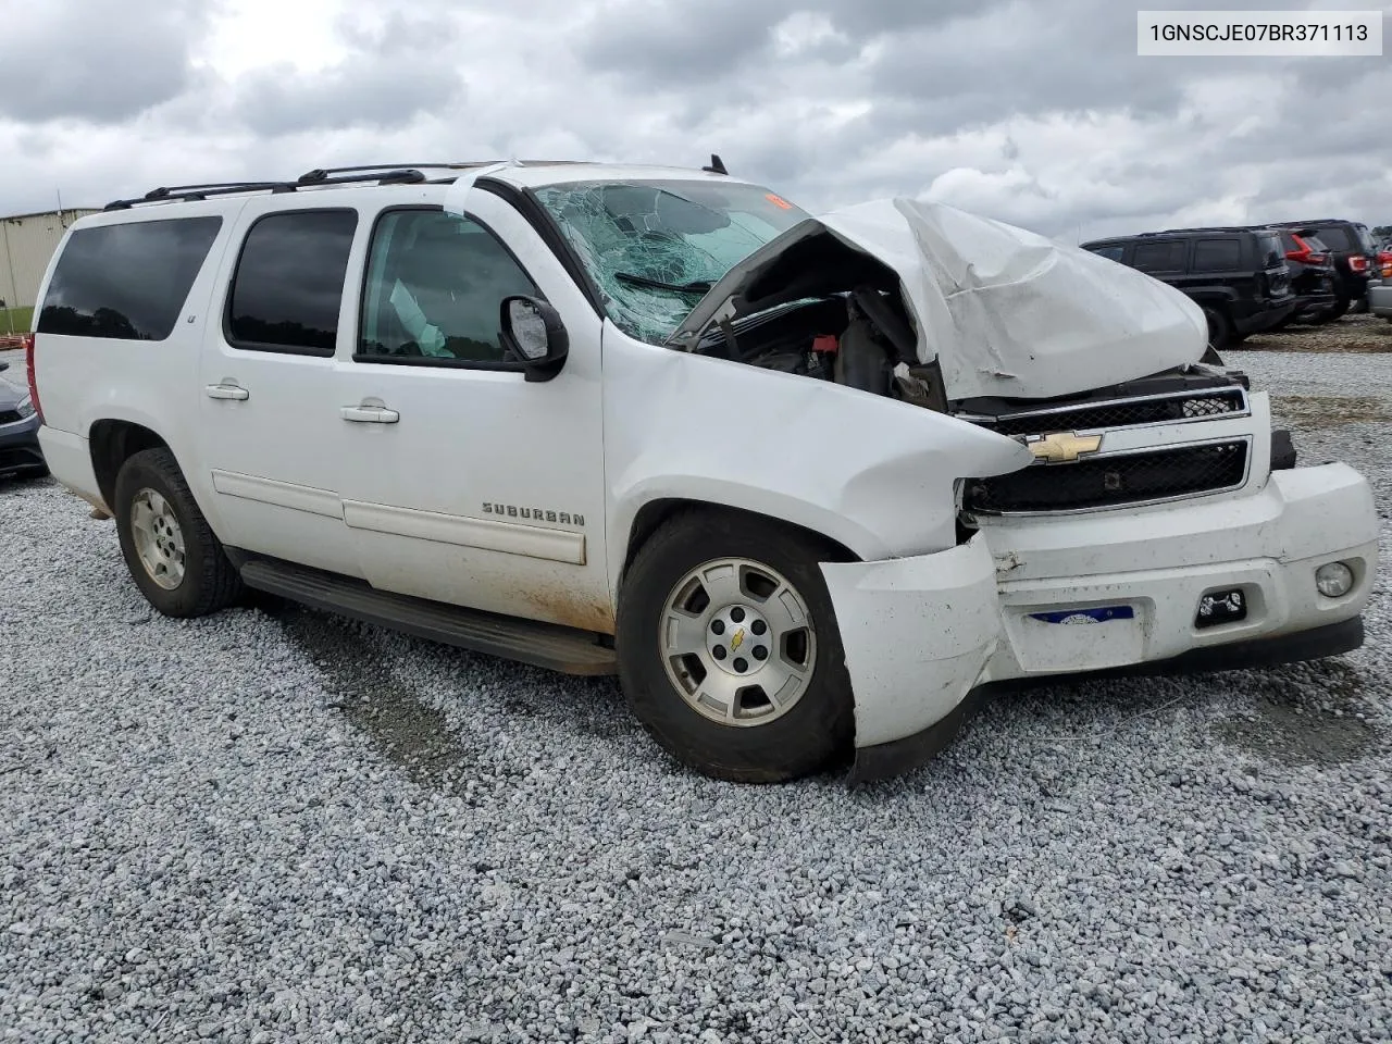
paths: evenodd
<path fill-rule="evenodd" d="M 206 617 L 241 597 L 241 576 L 168 450 L 142 450 L 127 459 L 111 507 L 125 567 L 161 614 Z"/>

